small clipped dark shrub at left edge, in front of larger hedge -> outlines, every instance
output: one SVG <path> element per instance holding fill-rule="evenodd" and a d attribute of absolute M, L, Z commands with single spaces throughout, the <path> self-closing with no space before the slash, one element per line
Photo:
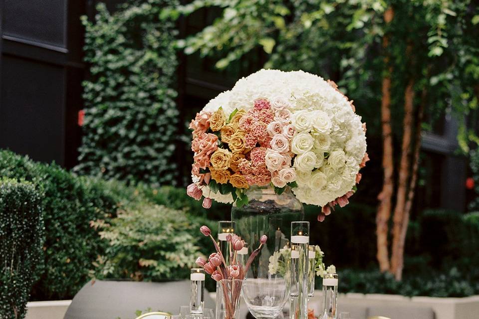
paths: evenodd
<path fill-rule="evenodd" d="M 43 260 L 41 195 L 30 182 L 0 179 L 0 318 L 21 319 Z"/>

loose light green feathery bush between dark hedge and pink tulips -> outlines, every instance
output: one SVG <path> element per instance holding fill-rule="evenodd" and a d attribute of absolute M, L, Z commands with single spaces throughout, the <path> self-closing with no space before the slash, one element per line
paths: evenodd
<path fill-rule="evenodd" d="M 187 278 L 200 255 L 200 225 L 180 210 L 140 204 L 97 226 L 110 243 L 96 263 L 98 278 Z"/>

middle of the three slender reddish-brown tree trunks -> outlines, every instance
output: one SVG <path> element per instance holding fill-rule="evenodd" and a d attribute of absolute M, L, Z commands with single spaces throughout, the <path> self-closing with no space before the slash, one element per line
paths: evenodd
<path fill-rule="evenodd" d="M 396 280 L 401 280 L 402 268 L 404 262 L 404 242 L 401 241 L 403 228 L 407 228 L 405 218 L 406 194 L 408 191 L 408 181 L 410 177 L 410 156 L 413 133 L 413 113 L 414 113 L 414 80 L 411 79 L 404 92 L 404 122 L 403 122 L 403 142 L 401 146 L 401 162 L 399 166 L 399 181 L 396 198 L 396 207 L 393 216 L 393 243 L 391 255 L 391 273 L 395 275 Z"/>

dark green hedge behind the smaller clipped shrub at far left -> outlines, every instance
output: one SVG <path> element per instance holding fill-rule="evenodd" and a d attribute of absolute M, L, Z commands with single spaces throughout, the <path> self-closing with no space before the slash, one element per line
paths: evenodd
<path fill-rule="evenodd" d="M 44 265 L 31 298 L 72 298 L 106 248 L 90 221 L 114 215 L 117 198 L 104 190 L 101 181 L 87 181 L 56 164 L 37 163 L 9 151 L 0 151 L 0 175 L 31 181 L 43 194 Z"/>

